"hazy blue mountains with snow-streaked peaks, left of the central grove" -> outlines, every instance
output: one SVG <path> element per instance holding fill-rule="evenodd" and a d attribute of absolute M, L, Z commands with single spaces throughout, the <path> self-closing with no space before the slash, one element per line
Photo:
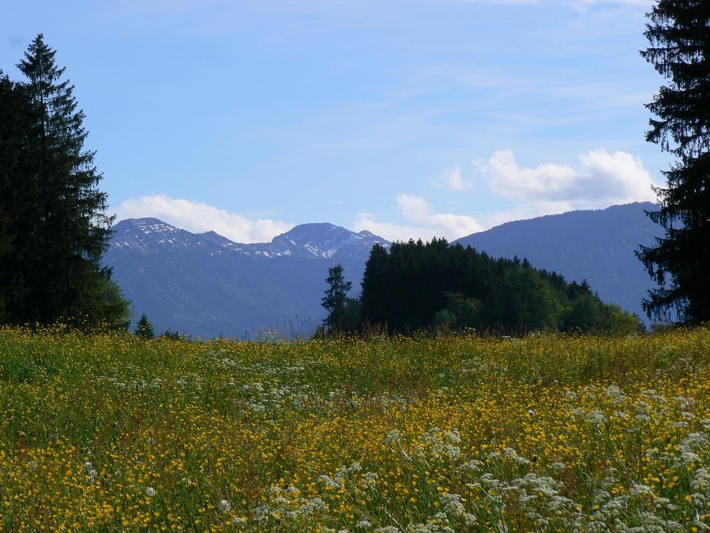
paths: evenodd
<path fill-rule="evenodd" d="M 310 331 L 324 317 L 320 298 L 330 266 L 341 263 L 359 289 L 373 244 L 385 239 L 329 224 L 297 226 L 266 244 L 193 234 L 157 219 L 114 227 L 104 264 L 156 330 L 211 337 L 253 336 L 274 326 Z"/>

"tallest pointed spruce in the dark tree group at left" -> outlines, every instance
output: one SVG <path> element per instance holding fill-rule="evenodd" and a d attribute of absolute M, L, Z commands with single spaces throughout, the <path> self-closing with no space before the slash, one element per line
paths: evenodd
<path fill-rule="evenodd" d="M 33 250 L 31 314 L 41 323 L 121 323 L 126 306 L 120 316 L 110 308 L 125 302 L 107 290 L 113 282 L 100 264 L 113 217 L 106 215 L 107 195 L 98 188 L 102 175 L 94 166 L 95 153 L 84 149 L 84 112 L 77 109 L 74 86 L 62 80 L 65 69 L 55 64 L 55 54 L 40 33 L 17 65 L 27 77 L 36 116 L 26 143 L 35 170 L 28 181 L 37 189 L 33 222 L 39 244 Z"/>

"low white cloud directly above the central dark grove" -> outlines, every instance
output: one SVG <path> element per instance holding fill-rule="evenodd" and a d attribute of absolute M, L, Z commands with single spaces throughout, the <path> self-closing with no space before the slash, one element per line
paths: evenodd
<path fill-rule="evenodd" d="M 432 237 L 452 240 L 484 229 L 474 217 L 434 212 L 429 203 L 418 196 L 400 194 L 397 204 L 406 224 L 380 222 L 371 213 L 360 213 L 354 230 L 369 230 L 388 240 L 428 240 Z"/>

